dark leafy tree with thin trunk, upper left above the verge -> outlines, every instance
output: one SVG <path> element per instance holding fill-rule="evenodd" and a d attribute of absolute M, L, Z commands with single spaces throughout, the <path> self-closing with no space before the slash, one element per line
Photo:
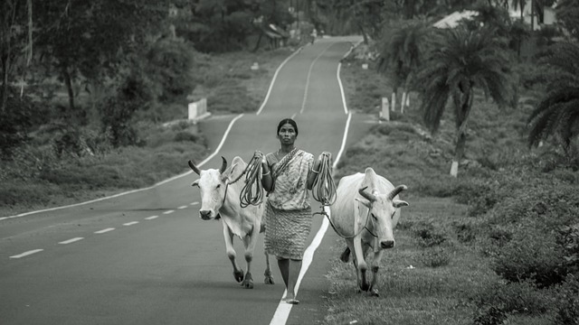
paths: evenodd
<path fill-rule="evenodd" d="M 59 73 L 71 111 L 78 95 L 75 80 L 113 76 L 119 53 L 158 32 L 169 8 L 168 0 L 36 1 L 35 44 Z"/>

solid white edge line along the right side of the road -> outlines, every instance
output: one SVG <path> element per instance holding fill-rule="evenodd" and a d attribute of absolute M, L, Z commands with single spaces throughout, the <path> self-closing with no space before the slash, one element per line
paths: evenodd
<path fill-rule="evenodd" d="M 350 49 L 350 51 L 351 51 L 351 49 Z M 339 70 L 340 64 L 338 64 L 337 67 Z M 339 74 L 337 75 L 337 79 L 338 80 L 340 79 Z M 340 91 L 342 92 L 342 94 L 344 94 L 344 89 L 342 88 L 341 82 L 339 83 L 339 86 L 340 86 Z M 342 100 L 344 100 L 344 97 L 342 97 Z M 346 107 L 346 102 L 344 102 L 344 107 Z M 346 127 L 344 129 L 344 137 L 342 138 L 342 145 L 340 146 L 340 150 L 336 155 L 336 160 L 334 161 L 334 164 L 332 165 L 333 168 L 336 168 L 337 163 L 339 162 L 340 157 L 342 156 L 342 153 L 344 153 L 344 149 L 346 148 L 347 133 L 348 133 L 348 130 L 350 128 L 350 121 L 352 119 L 352 113 L 351 112 L 347 113 L 347 108 L 346 108 L 346 114 L 347 114 L 347 120 L 346 120 Z M 327 212 L 327 216 L 329 218 L 331 218 L 329 209 L 324 208 L 324 210 Z M 326 230 L 327 230 L 328 225 L 329 225 L 329 222 L 327 221 L 327 218 L 324 218 L 321 226 L 318 229 L 318 233 L 316 234 L 316 237 L 314 237 L 314 240 L 312 240 L 311 244 L 308 246 L 308 248 L 306 248 L 306 251 L 304 252 L 301 270 L 299 271 L 298 282 L 296 283 L 296 288 L 295 288 L 296 294 L 298 294 L 299 284 L 301 283 L 301 279 L 303 279 L 306 272 L 308 272 L 308 267 L 309 267 L 309 265 L 311 265 L 311 262 L 314 259 L 314 252 L 316 251 L 316 249 L 318 249 L 319 244 L 321 244 L 322 238 L 324 237 L 324 235 L 326 235 Z M 286 295 L 286 291 L 283 292 L 283 294 L 281 295 L 281 298 L 283 299 L 283 296 L 285 296 L 285 295 Z M 275 313 L 273 314 L 273 318 L 271 318 L 270 325 L 285 325 L 285 323 L 288 321 L 289 311 L 291 311 L 291 307 L 293 306 L 293 304 L 283 302 L 282 299 L 280 299 L 280 303 L 278 304 L 278 308 L 276 309 Z"/>

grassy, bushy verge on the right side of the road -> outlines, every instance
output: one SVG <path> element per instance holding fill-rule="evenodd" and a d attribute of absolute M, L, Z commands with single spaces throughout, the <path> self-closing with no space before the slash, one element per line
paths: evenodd
<path fill-rule="evenodd" d="M 369 70 L 350 63 L 342 70 L 348 107 L 377 112 L 391 93 L 387 80 L 372 62 Z M 568 261 L 576 261 L 569 238 L 579 232 L 568 229 L 579 225 L 579 206 L 566 201 L 579 200 L 579 175 L 527 149 L 525 120 L 534 101 L 529 91 L 517 109 L 498 109 L 477 96 L 458 179 L 449 176 L 451 116 L 438 135 L 425 133 L 415 97 L 404 115 L 393 112 L 391 122 L 347 149 L 337 178 L 371 166 L 408 186 L 402 197 L 410 207 L 396 247 L 384 254 L 380 297 L 357 291 L 354 266 L 339 261 L 344 243 L 337 241 L 323 324 L 576 323 L 579 299 L 569 292 L 577 296 L 577 269 Z M 561 228 L 574 235 L 561 235 Z"/>

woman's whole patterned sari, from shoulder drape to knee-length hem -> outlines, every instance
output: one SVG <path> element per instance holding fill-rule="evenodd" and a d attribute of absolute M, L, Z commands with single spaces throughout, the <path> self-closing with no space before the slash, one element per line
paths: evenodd
<path fill-rule="evenodd" d="M 282 258 L 302 259 L 311 228 L 308 172 L 314 156 L 294 149 L 278 161 L 266 155 L 273 176 L 265 211 L 265 250 Z"/>

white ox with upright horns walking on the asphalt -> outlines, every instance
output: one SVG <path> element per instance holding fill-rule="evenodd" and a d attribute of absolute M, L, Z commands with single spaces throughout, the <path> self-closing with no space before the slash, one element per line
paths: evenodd
<path fill-rule="evenodd" d="M 223 163 L 219 170 L 208 169 L 200 171 L 195 163 L 189 161 L 189 167 L 200 178 L 193 182 L 193 186 L 198 186 L 201 192 L 201 208 L 199 217 L 204 220 L 221 218 L 223 223 L 223 237 L 225 237 L 225 249 L 227 256 L 233 265 L 233 277 L 246 289 L 253 288 L 252 259 L 253 249 L 257 243 L 259 234 L 264 231 L 265 225 L 261 224 L 263 215 L 263 202 L 260 205 L 249 205 L 241 208 L 240 193 L 243 182 L 237 181 L 242 177 L 247 163 L 242 158 L 233 158 L 232 166 L 227 168 L 227 161 L 222 157 Z M 247 263 L 247 273 L 243 274 L 243 269 L 235 261 L 235 248 L 233 247 L 233 236 L 239 237 L 245 247 L 245 262 Z M 273 284 L 271 276 L 270 259 L 265 254 L 266 269 L 265 283 Z"/>

